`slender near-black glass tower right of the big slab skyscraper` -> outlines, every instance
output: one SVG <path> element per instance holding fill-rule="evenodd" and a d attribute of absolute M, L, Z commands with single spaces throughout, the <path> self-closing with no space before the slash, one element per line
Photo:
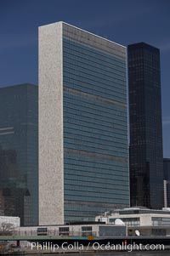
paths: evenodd
<path fill-rule="evenodd" d="M 160 52 L 128 46 L 131 205 L 163 206 Z"/>

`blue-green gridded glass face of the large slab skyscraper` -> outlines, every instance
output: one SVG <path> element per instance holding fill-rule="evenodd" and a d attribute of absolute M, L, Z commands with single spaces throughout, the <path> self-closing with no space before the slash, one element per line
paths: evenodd
<path fill-rule="evenodd" d="M 63 24 L 65 222 L 129 206 L 126 49 L 95 40 Z"/>

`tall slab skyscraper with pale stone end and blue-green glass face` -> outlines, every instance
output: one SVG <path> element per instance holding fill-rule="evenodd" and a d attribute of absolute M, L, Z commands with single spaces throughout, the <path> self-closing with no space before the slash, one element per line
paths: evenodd
<path fill-rule="evenodd" d="M 126 48 L 39 27 L 39 224 L 129 205 Z"/>

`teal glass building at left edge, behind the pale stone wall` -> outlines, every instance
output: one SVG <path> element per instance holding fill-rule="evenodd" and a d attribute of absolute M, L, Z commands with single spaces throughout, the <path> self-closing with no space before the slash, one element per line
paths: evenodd
<path fill-rule="evenodd" d="M 0 215 L 37 225 L 37 86 L 0 88 Z"/>

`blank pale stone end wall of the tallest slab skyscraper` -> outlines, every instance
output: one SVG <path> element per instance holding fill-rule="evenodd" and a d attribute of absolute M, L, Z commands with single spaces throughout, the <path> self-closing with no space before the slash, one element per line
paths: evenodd
<path fill-rule="evenodd" d="M 62 22 L 39 27 L 39 225 L 64 223 Z"/>

